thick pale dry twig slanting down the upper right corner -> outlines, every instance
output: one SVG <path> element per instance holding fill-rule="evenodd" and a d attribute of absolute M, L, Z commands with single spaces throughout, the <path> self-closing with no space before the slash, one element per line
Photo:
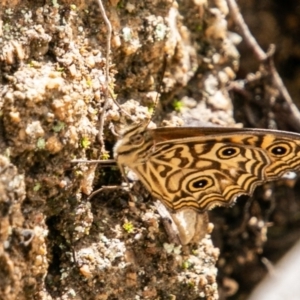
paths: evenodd
<path fill-rule="evenodd" d="M 265 68 L 269 71 L 272 76 L 272 81 L 275 87 L 279 90 L 282 98 L 288 105 L 289 117 L 287 118 L 287 122 L 295 128 L 297 131 L 300 131 L 300 112 L 293 103 L 293 100 L 284 86 L 273 62 L 273 54 L 275 51 L 275 47 L 271 46 L 268 53 L 265 53 L 261 47 L 258 45 L 257 41 L 251 34 L 248 26 L 246 25 L 240 10 L 236 4 L 235 0 L 227 0 L 227 4 L 230 10 L 230 14 L 235 22 L 235 24 L 240 28 L 241 34 L 248 44 L 248 46 L 252 49 L 257 60 L 264 64 Z"/>

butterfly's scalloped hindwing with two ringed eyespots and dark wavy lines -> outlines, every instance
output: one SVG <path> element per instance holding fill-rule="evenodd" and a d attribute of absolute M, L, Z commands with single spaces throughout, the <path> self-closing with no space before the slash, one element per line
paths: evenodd
<path fill-rule="evenodd" d="M 241 194 L 251 194 L 265 180 L 269 158 L 261 149 L 222 139 L 172 141 L 156 151 L 137 173 L 147 174 L 150 191 L 172 210 L 199 211 L 228 206 Z M 148 187 L 148 189 L 149 189 Z"/>

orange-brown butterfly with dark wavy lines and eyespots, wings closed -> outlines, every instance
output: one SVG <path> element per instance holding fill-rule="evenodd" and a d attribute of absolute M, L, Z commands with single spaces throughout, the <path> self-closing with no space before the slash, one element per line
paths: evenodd
<path fill-rule="evenodd" d="M 171 211 L 231 206 L 256 186 L 300 170 L 300 134 L 267 129 L 163 127 L 126 129 L 114 148 Z M 123 172 L 124 174 L 124 172 Z"/>

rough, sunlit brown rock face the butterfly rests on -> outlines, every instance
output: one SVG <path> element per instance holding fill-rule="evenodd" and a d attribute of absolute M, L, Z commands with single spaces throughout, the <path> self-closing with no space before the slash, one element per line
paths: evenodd
<path fill-rule="evenodd" d="M 221 296 L 235 293 L 232 274 L 257 260 L 266 240 L 259 204 L 250 209 L 256 219 L 232 235 L 230 220 L 242 222 L 243 206 L 221 212 L 228 223 L 213 213 L 224 249 L 217 266 L 212 225 L 202 241 L 174 245 L 142 186 L 128 191 L 114 169 L 71 163 L 112 156 L 115 134 L 153 110 L 164 126 L 236 126 L 228 86 L 240 37 L 228 31 L 228 7 L 205 0 L 104 6 L 113 29 L 109 60 L 97 2 L 0 4 L 0 299 L 212 300 L 217 272 Z M 257 91 L 253 82 L 249 90 Z M 97 139 L 101 118 L 105 147 Z M 102 185 L 109 187 L 88 198 Z M 242 236 L 249 248 L 230 256 L 222 236 L 232 245 Z"/>

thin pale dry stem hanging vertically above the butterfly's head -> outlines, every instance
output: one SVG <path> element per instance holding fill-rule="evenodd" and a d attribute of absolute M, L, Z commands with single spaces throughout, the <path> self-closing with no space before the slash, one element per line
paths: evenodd
<path fill-rule="evenodd" d="M 104 105 L 102 107 L 101 117 L 99 120 L 99 133 L 98 133 L 98 141 L 101 145 L 101 152 L 104 152 L 104 141 L 103 141 L 103 126 L 104 126 L 104 114 L 108 105 L 108 93 L 109 93 L 109 55 L 110 55 L 110 41 L 111 41 L 111 33 L 112 27 L 111 23 L 106 15 L 103 3 L 101 0 L 98 0 L 101 15 L 104 19 L 104 22 L 107 26 L 107 44 L 106 44 L 106 66 L 105 66 L 105 89 L 104 89 Z"/>

